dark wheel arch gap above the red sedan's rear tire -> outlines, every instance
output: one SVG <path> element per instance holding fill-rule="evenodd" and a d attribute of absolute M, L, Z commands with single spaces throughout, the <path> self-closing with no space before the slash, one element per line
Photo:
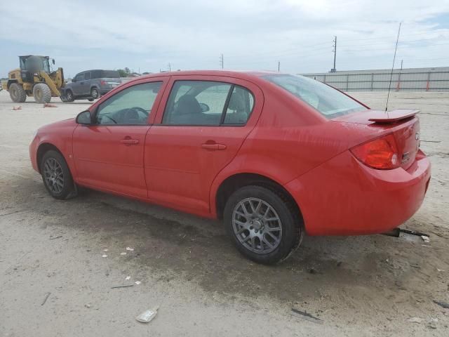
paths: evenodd
<path fill-rule="evenodd" d="M 231 194 L 236 190 L 239 190 L 239 188 L 249 185 L 266 187 L 273 192 L 281 194 L 281 196 L 286 198 L 293 205 L 297 215 L 300 216 L 302 223 L 304 223 L 300 206 L 297 204 L 292 194 L 290 194 L 290 192 L 288 192 L 288 190 L 286 190 L 286 188 L 276 180 L 263 176 L 259 173 L 235 173 L 220 183 L 214 196 L 214 205 L 217 218 L 223 218 L 223 211 L 225 210 L 226 201 L 229 199 Z"/>

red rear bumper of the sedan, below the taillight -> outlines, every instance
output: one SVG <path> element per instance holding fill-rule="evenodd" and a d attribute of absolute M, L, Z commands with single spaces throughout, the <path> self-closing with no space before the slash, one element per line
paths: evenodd
<path fill-rule="evenodd" d="M 370 169 L 346 151 L 285 187 L 300 206 L 307 234 L 375 234 L 415 214 L 430 174 L 430 161 L 421 151 L 407 170 Z"/>

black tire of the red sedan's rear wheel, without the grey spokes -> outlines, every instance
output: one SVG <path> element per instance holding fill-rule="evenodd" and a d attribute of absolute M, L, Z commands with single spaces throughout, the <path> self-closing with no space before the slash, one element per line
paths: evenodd
<path fill-rule="evenodd" d="M 270 239 L 268 237 L 267 228 L 272 228 L 267 225 L 266 221 L 262 221 L 264 225 L 262 224 L 262 230 L 260 230 L 260 222 L 257 222 L 258 229 L 260 230 L 259 235 L 263 236 L 263 240 L 256 239 L 259 242 L 259 247 L 262 247 L 258 253 L 255 253 L 254 251 L 251 251 L 249 248 L 247 248 L 244 242 L 246 239 L 244 237 L 250 237 L 250 230 L 253 231 L 255 228 L 252 226 L 249 227 L 248 225 L 248 218 L 245 220 L 245 224 L 248 225 L 248 229 L 243 230 L 243 227 L 241 227 L 241 230 L 243 232 L 241 234 L 236 234 L 236 230 L 234 230 L 234 216 L 239 216 L 239 204 L 241 202 L 248 202 L 249 200 L 257 199 L 261 200 L 264 204 L 272 208 L 274 211 L 274 215 L 277 216 L 277 219 L 279 219 L 279 223 L 276 222 L 276 226 L 281 227 L 281 231 L 278 232 L 271 232 L 279 236 L 279 242 L 270 242 L 272 244 L 272 247 L 268 246 L 268 244 L 265 242 L 265 239 Z M 255 201 L 257 203 L 257 201 Z M 241 204 L 240 204 L 241 205 Z M 266 210 L 265 209 L 265 210 Z M 234 211 L 236 213 L 234 214 Z M 258 213 L 257 213 L 258 214 Z M 260 216 L 260 214 L 258 214 Z M 267 213 L 265 213 L 265 216 Z M 290 201 L 287 197 L 285 197 L 282 193 L 276 192 L 275 190 L 271 190 L 266 187 L 261 186 L 245 186 L 241 187 L 241 189 L 234 192 L 229 199 L 227 200 L 225 211 L 224 211 L 224 223 L 227 228 L 227 232 L 229 236 L 232 239 L 232 242 L 234 242 L 236 248 L 243 254 L 243 256 L 246 256 L 250 260 L 253 260 L 257 263 L 262 263 L 266 265 L 272 265 L 274 263 L 279 263 L 288 256 L 290 256 L 291 253 L 293 253 L 297 247 L 300 246 L 302 242 L 302 237 L 304 235 L 303 230 L 303 224 L 302 224 L 302 218 L 300 216 L 299 211 L 297 211 L 297 207 L 295 207 L 295 204 L 293 204 L 293 201 Z M 243 218 L 242 218 L 243 219 Z M 256 223 L 257 220 L 254 221 Z M 277 221 L 277 220 L 276 220 Z M 251 224 L 253 224 L 253 221 L 250 221 Z M 255 231 L 257 233 L 257 230 Z M 246 236 L 246 233 L 248 233 L 248 236 Z M 279 234 L 280 233 L 280 234 Z M 254 234 L 253 235 L 257 235 Z M 242 239 L 243 237 L 243 239 Z M 262 241 L 264 243 L 262 243 Z M 270 239 L 271 241 L 271 239 Z M 246 241 L 249 243 L 249 240 Z M 257 245 L 255 245 L 257 246 Z M 267 247 L 267 253 L 264 252 L 264 246 Z M 273 248 L 275 246 L 276 248 Z M 272 251 L 269 251 L 269 249 L 273 249 Z"/>

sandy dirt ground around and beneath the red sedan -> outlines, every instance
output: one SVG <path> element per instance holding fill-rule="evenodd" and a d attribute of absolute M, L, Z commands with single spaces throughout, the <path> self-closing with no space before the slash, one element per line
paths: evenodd
<path fill-rule="evenodd" d="M 386 93 L 354 96 L 382 109 Z M 29 142 L 89 106 L 55 104 L 14 111 L 0 93 L 0 336 L 449 336 L 449 309 L 434 303 L 449 302 L 449 93 L 391 95 L 391 109 L 422 110 L 432 180 L 403 227 L 429 244 L 306 237 L 273 267 L 240 256 L 216 221 L 94 191 L 52 199 Z M 152 322 L 135 320 L 156 305 Z"/>

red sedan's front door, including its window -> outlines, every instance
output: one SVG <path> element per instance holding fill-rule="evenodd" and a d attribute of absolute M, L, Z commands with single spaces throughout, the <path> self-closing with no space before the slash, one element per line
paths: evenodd
<path fill-rule="evenodd" d="M 128 84 L 94 108 L 93 124 L 76 127 L 73 154 L 81 185 L 147 197 L 145 136 L 163 84 L 163 78 Z"/>

